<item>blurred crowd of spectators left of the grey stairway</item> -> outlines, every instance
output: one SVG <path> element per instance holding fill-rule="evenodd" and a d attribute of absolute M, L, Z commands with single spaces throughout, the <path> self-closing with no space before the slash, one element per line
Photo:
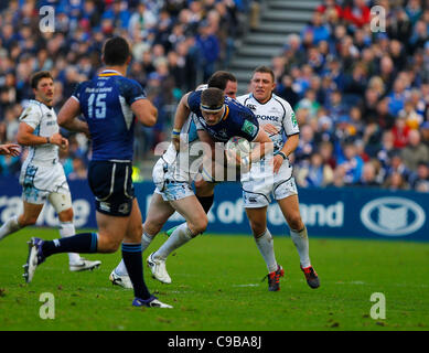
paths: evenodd
<path fill-rule="evenodd" d="M 132 46 L 129 76 L 137 79 L 159 110 L 154 128 L 140 127 L 137 163 L 170 137 L 178 99 L 215 71 L 226 66 L 234 41 L 243 31 L 249 0 L 10 0 L 0 2 L 0 142 L 13 141 L 17 118 L 32 98 L 29 78 L 41 69 L 55 78 L 58 111 L 78 82 L 100 68 L 100 50 L 112 35 Z M 55 9 L 55 31 L 41 32 L 40 22 Z M 66 133 L 66 131 L 62 131 Z M 68 136 L 68 135 L 67 135 Z M 88 141 L 69 136 L 63 162 L 72 178 L 85 178 Z M 22 159 L 0 157 L 1 175 L 17 174 Z M 76 161 L 77 159 L 77 161 Z M 82 167 L 79 167 L 82 169 Z"/>

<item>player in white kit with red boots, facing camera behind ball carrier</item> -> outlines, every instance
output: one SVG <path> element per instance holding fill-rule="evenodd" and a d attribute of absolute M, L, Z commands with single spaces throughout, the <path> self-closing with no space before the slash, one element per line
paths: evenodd
<path fill-rule="evenodd" d="M 320 286 L 319 277 L 310 263 L 309 239 L 299 211 L 298 191 L 292 176 L 288 156 L 298 147 L 299 126 L 290 105 L 274 94 L 276 87 L 272 71 L 267 66 L 255 69 L 251 93 L 237 100 L 254 111 L 260 126 L 274 142 L 274 157 L 251 164 L 248 173 L 242 175 L 243 200 L 256 244 L 268 267 L 269 290 L 280 289 L 280 277 L 285 270 L 277 264 L 272 236 L 267 227 L 267 208 L 271 196 L 277 201 L 290 227 L 290 234 L 300 256 L 300 267 L 311 288 Z M 283 143 L 283 133 L 287 140 Z"/>

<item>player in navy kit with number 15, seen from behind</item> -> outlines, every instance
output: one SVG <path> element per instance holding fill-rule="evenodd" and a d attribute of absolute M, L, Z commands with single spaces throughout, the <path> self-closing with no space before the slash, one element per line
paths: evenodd
<path fill-rule="evenodd" d="M 115 253 L 122 244 L 122 258 L 132 282 L 132 306 L 172 308 L 152 296 L 143 280 L 142 217 L 131 181 L 135 118 L 144 126 L 157 122 L 157 108 L 142 87 L 126 78 L 131 54 L 122 38 L 109 39 L 103 49 L 106 68 L 81 83 L 58 114 L 58 124 L 87 133 L 93 141 L 88 182 L 95 196 L 98 233 L 43 240 L 33 237 L 24 265 L 28 282 L 36 267 L 60 253 Z M 85 121 L 78 119 L 83 115 Z"/>

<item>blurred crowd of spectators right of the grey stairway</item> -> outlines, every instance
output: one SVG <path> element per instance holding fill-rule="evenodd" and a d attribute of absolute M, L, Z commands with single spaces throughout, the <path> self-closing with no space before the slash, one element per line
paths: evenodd
<path fill-rule="evenodd" d="M 301 128 L 298 184 L 429 192 L 429 1 L 321 2 L 272 60 Z"/>

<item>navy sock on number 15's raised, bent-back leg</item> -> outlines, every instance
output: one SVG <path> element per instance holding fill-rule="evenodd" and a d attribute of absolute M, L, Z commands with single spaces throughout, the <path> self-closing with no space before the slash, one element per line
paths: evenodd
<path fill-rule="evenodd" d="M 60 253 L 97 253 L 97 233 L 81 233 L 54 240 L 44 240 L 42 253 L 45 257 Z"/>

